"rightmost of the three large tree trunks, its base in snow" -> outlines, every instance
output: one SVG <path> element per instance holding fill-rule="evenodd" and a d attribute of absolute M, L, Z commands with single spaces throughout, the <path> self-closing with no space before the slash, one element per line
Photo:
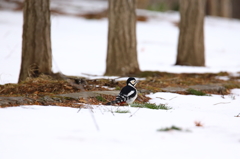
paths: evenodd
<path fill-rule="evenodd" d="M 180 1 L 180 34 L 176 65 L 205 66 L 205 0 Z"/>

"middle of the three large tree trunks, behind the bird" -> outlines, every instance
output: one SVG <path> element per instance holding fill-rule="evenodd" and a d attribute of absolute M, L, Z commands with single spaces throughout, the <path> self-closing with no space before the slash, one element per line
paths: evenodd
<path fill-rule="evenodd" d="M 109 0 L 105 75 L 139 72 L 136 42 L 136 0 Z"/>

